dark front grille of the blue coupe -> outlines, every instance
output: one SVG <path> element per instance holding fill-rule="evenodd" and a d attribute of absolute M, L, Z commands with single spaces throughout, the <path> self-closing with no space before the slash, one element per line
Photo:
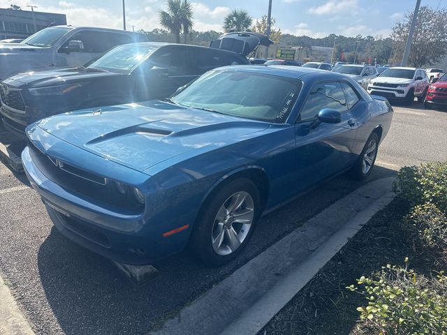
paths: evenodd
<path fill-rule="evenodd" d="M 34 144 L 28 141 L 29 153 L 33 162 L 45 176 L 54 183 L 65 188 L 71 193 L 80 195 L 81 198 L 100 207 L 113 207 L 113 209 L 123 214 L 141 214 L 144 206 L 134 201 L 128 195 L 117 192 L 115 185 L 106 182 L 105 178 L 67 165 L 60 161 L 54 163 L 54 158 L 50 158 L 37 149 Z"/>

